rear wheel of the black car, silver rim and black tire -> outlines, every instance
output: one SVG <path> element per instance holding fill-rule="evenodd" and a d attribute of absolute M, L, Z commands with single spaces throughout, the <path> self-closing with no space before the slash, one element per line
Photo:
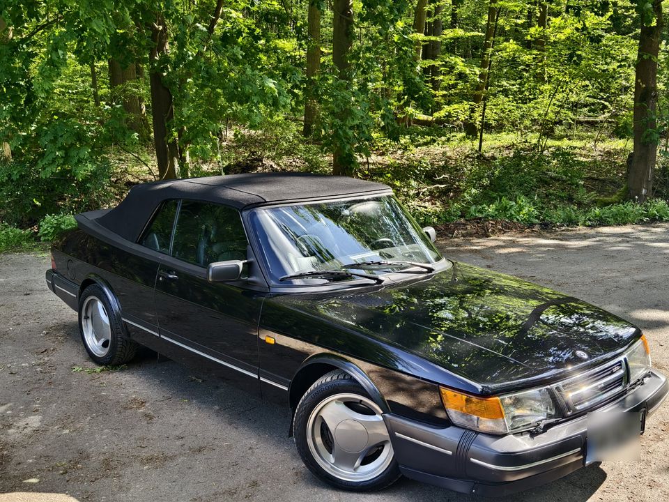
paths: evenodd
<path fill-rule="evenodd" d="M 98 284 L 91 284 L 79 297 L 79 333 L 89 357 L 99 365 L 122 365 L 137 353 L 137 343 L 128 338 Z"/>

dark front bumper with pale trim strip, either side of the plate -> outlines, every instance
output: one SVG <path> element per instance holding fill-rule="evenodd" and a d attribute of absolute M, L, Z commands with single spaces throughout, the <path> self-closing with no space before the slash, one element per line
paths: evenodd
<path fill-rule="evenodd" d="M 652 370 L 642 385 L 601 411 L 651 415 L 669 393 L 667 378 Z M 587 417 L 529 432 L 493 436 L 460 427 L 436 428 L 387 413 L 385 423 L 404 476 L 456 492 L 504 496 L 544 485 L 585 465 Z"/>

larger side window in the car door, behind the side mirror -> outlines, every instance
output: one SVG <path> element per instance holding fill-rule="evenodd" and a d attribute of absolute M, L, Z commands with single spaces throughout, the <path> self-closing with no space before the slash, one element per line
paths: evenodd
<path fill-rule="evenodd" d="M 239 211 L 208 202 L 181 202 L 173 257 L 208 266 L 215 261 L 245 260 L 246 247 Z"/>

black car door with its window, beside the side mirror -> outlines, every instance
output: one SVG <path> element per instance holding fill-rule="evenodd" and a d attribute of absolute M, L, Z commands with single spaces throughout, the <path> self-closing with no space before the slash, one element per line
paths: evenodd
<path fill-rule="evenodd" d="M 155 305 L 163 340 L 215 363 L 224 376 L 257 391 L 262 297 L 244 281 L 207 279 L 210 263 L 245 260 L 246 250 L 236 209 L 181 201 L 171 252 L 158 268 Z"/>

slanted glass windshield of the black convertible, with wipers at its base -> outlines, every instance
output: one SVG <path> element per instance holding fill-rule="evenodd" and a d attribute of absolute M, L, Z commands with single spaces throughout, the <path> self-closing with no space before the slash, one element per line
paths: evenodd
<path fill-rule="evenodd" d="M 366 273 L 383 275 L 410 268 L 405 262 L 433 264 L 441 259 L 424 231 L 392 196 L 261 208 L 252 211 L 250 218 L 273 284 L 285 284 L 282 277 L 290 278 L 291 284 L 318 284 L 328 278 L 290 276 L 343 267 L 351 271 L 355 269 L 351 264 L 362 262 L 402 262 L 402 266 L 382 268 L 360 266 Z"/>

